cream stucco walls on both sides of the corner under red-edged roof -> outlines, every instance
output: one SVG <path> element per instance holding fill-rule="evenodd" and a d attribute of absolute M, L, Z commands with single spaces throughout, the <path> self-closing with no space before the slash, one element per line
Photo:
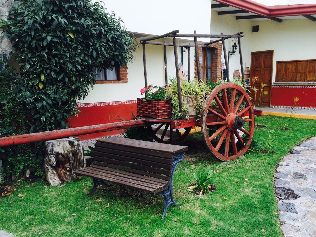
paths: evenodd
<path fill-rule="evenodd" d="M 252 33 L 252 26 L 259 25 L 259 32 Z M 234 15 L 218 15 L 211 11 L 211 33 L 244 32 L 241 48 L 244 67 L 251 66 L 251 52 L 274 50 L 272 82 L 276 77 L 276 62 L 316 58 L 316 24 L 308 19 L 282 20 L 236 20 Z M 225 40 L 227 54 L 231 50 L 231 40 Z M 238 43 L 237 43 L 238 45 Z M 222 55 L 222 61 L 224 57 Z M 239 51 L 230 58 L 229 75 L 240 69 Z"/>

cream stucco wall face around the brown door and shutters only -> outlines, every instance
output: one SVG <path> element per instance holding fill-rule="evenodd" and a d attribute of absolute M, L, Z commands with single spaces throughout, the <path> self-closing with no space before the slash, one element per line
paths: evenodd
<path fill-rule="evenodd" d="M 274 50 L 272 82 L 275 82 L 277 61 L 316 59 L 314 21 L 253 21 L 253 25 L 259 25 L 259 32 L 251 33 L 251 52 Z"/>

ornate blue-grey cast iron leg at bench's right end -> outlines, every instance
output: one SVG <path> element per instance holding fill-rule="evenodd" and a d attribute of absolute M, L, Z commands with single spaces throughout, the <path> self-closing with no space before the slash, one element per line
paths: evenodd
<path fill-rule="evenodd" d="M 178 163 L 180 161 L 182 161 L 182 158 L 184 156 L 184 153 L 185 152 L 181 152 L 181 153 L 178 153 L 176 155 L 173 155 L 173 161 L 172 161 L 172 173 L 171 173 L 171 179 L 170 179 L 170 183 L 169 183 L 169 186 L 167 189 L 165 189 L 164 191 L 161 191 L 157 194 L 161 194 L 163 195 L 163 197 L 165 198 L 165 209 L 163 210 L 163 213 L 162 213 L 162 216 L 161 216 L 161 219 L 165 218 L 165 215 L 167 213 L 167 209 L 168 209 L 168 206 L 170 204 L 173 204 L 175 206 L 178 206 L 180 204 L 176 203 L 174 200 L 173 200 L 173 195 L 172 195 L 172 180 L 173 180 L 173 174 L 174 174 L 174 171 L 178 165 Z"/>

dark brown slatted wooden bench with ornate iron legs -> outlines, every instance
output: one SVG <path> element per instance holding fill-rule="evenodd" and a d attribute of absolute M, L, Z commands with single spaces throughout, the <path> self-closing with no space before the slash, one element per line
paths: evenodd
<path fill-rule="evenodd" d="M 95 143 L 92 164 L 74 173 L 93 178 L 94 186 L 89 195 L 100 184 L 108 186 L 104 181 L 163 195 L 163 218 L 170 204 L 179 205 L 173 200 L 172 180 L 174 170 L 187 149 L 185 146 L 122 137 L 99 139 Z"/>

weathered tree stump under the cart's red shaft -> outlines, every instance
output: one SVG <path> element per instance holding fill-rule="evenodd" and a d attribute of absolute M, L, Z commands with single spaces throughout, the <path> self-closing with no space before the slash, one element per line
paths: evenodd
<path fill-rule="evenodd" d="M 85 166 L 83 146 L 79 137 L 45 142 L 44 171 L 52 186 L 77 180 L 74 171 Z"/>

